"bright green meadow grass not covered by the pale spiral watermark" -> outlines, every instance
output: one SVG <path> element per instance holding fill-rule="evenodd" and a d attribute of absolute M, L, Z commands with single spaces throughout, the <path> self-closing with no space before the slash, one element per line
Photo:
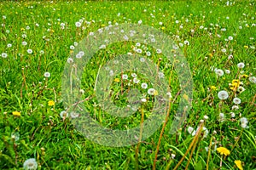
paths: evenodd
<path fill-rule="evenodd" d="M 208 135 L 200 135 L 195 151 L 189 161 L 189 169 L 206 169 L 207 158 L 209 169 L 237 169 L 235 160 L 241 160 L 244 169 L 256 169 L 255 156 L 255 83 L 250 77 L 256 77 L 255 50 L 255 2 L 253 0 L 235 1 L 230 6 L 226 1 L 1 1 L 0 2 L 0 169 L 19 169 L 28 158 L 35 158 L 38 169 L 152 169 L 154 155 L 160 138 L 161 127 L 139 145 L 125 147 L 108 147 L 96 144 L 85 138 L 69 118 L 61 118 L 65 111 L 65 102 L 61 96 L 61 77 L 67 58 L 72 54 L 70 49 L 74 42 L 80 42 L 90 32 L 115 23 L 134 23 L 143 20 L 143 25 L 153 26 L 172 37 L 177 44 L 183 43 L 190 72 L 193 77 L 192 109 L 188 118 L 178 129 L 170 134 L 171 122 L 177 111 L 179 101 L 185 96 L 177 95 L 180 90 L 177 72 L 166 56 L 156 54 L 156 49 L 148 47 L 151 56 L 148 59 L 165 73 L 165 78 L 172 78 L 169 87 L 172 91 L 172 109 L 169 122 L 163 133 L 158 152 L 156 169 L 173 169 L 189 148 L 195 138 L 188 132 L 188 127 L 198 127 L 204 116 L 204 126 Z M 6 19 L 3 18 L 6 16 Z M 227 17 L 229 17 L 227 19 Z M 75 23 L 83 20 L 77 28 Z M 178 23 L 176 21 L 178 20 Z M 90 24 L 86 23 L 89 21 Z M 162 25 L 160 25 L 162 22 Z M 65 28 L 61 29 L 61 23 Z M 38 26 L 37 26 L 38 25 Z M 26 27 L 29 26 L 29 29 Z M 183 26 L 182 28 L 180 26 Z M 203 26 L 203 27 L 202 27 Z M 241 26 L 241 27 L 240 27 Z M 207 29 L 205 29 L 207 28 Z M 224 29 L 225 28 L 225 29 Z M 224 31 L 224 30 L 225 31 Z M 191 31 L 191 30 L 194 30 Z M 22 37 L 26 34 L 26 37 Z M 178 36 L 178 37 L 177 37 Z M 228 40 L 233 37 L 233 40 Z M 184 41 L 189 45 L 184 45 Z M 26 41 L 24 46 L 21 42 Z M 8 44 L 12 47 L 8 48 Z M 142 44 L 143 45 L 143 44 Z M 98 51 L 84 69 L 81 88 L 84 108 L 90 116 L 103 127 L 112 129 L 129 129 L 140 126 L 142 109 L 129 117 L 115 117 L 102 111 L 94 91 L 96 77 L 100 66 L 119 54 L 135 53 L 132 47 L 136 42 L 117 42 L 106 49 Z M 223 49 L 226 52 L 222 52 Z M 32 49 L 32 54 L 27 53 Z M 44 54 L 40 52 L 44 51 Z M 3 58 L 4 54 L 7 58 Z M 230 54 L 233 55 L 229 59 Z M 72 55 L 71 55 L 72 56 Z M 145 55 L 144 55 L 145 56 Z M 162 58 L 158 64 L 159 58 Z M 237 64 L 243 62 L 243 69 Z M 213 69 L 212 69 L 213 67 Z M 217 77 L 214 68 L 230 70 L 230 74 Z M 243 71 L 243 72 L 241 72 Z M 50 77 L 45 78 L 44 73 Z M 133 71 L 126 71 L 131 75 Z M 142 82 L 150 85 L 148 77 L 136 72 L 141 82 L 137 88 L 142 94 L 147 90 L 140 87 Z M 241 77 L 247 75 L 248 77 Z M 119 75 L 116 75 L 119 80 Z M 131 76 L 130 76 L 131 77 Z M 130 78 L 129 77 L 129 78 Z M 234 93 L 229 86 L 234 79 L 241 77 L 241 85 L 246 90 L 241 94 Z M 121 86 L 123 86 L 121 88 Z M 212 89 L 214 86 L 216 89 Z M 131 88 L 128 82 L 112 82 L 112 100 L 115 105 L 127 105 L 127 95 Z M 124 90 L 124 94 L 123 93 Z M 230 96 L 221 101 L 218 92 L 226 90 Z M 235 97 L 241 99 L 237 111 L 232 110 Z M 143 111 L 145 120 L 152 116 L 154 98 L 147 96 Z M 48 105 L 50 100 L 55 105 Z M 20 116 L 12 113 L 19 111 Z M 219 113 L 224 113 L 224 122 L 219 121 Z M 230 112 L 236 114 L 230 116 Z M 247 128 L 241 127 L 240 118 L 246 117 Z M 19 134 L 19 139 L 11 134 Z M 238 139 L 238 140 L 237 140 Z M 208 156 L 205 147 L 214 142 L 217 147 L 229 149 L 230 156 L 221 158 L 212 147 Z M 172 158 L 172 155 L 175 155 Z M 190 154 L 190 153 L 189 153 Z M 189 160 L 187 155 L 178 169 L 185 169 Z"/>

